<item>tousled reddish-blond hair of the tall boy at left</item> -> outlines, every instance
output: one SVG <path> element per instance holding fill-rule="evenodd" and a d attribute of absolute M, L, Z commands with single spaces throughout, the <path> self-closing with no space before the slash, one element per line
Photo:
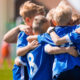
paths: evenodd
<path fill-rule="evenodd" d="M 45 10 L 43 6 L 27 1 L 21 5 L 19 13 L 25 19 L 26 17 L 33 17 L 36 14 L 44 14 Z"/>

